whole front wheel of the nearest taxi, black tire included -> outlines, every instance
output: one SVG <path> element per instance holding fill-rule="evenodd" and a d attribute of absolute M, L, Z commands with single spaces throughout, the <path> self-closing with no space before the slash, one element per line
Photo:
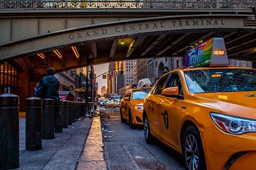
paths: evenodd
<path fill-rule="evenodd" d="M 188 170 L 205 170 L 206 159 L 203 152 L 201 137 L 195 127 L 188 126 L 183 136 L 183 159 Z"/>

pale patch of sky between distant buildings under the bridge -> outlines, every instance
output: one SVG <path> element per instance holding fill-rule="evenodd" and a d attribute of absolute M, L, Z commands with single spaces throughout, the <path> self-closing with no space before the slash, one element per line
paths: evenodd
<path fill-rule="evenodd" d="M 96 77 L 98 77 L 102 73 L 107 72 L 108 66 L 109 66 L 109 63 L 95 65 L 94 67 L 95 67 Z M 106 86 L 106 89 L 107 89 L 107 79 L 102 79 L 102 76 L 100 76 L 96 79 L 96 82 L 98 82 L 98 93 L 99 94 L 101 93 L 102 86 Z"/>

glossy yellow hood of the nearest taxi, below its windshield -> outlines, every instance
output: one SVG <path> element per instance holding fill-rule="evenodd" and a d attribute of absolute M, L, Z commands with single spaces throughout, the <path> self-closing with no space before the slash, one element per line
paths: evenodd
<path fill-rule="evenodd" d="M 221 113 L 256 119 L 256 91 L 193 94 L 199 103 Z"/>

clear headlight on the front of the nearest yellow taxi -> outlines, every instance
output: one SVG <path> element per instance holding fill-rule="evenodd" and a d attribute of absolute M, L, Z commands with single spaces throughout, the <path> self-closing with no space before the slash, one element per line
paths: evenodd
<path fill-rule="evenodd" d="M 256 120 L 240 118 L 233 115 L 210 113 L 210 118 L 224 132 L 240 135 L 246 132 L 256 132 Z"/>

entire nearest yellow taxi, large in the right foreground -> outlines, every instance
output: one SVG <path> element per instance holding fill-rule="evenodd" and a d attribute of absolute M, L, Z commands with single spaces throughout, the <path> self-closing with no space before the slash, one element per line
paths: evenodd
<path fill-rule="evenodd" d="M 183 154 L 189 170 L 256 169 L 256 69 L 218 67 L 213 57 L 156 82 L 144 99 L 145 140 Z"/>

